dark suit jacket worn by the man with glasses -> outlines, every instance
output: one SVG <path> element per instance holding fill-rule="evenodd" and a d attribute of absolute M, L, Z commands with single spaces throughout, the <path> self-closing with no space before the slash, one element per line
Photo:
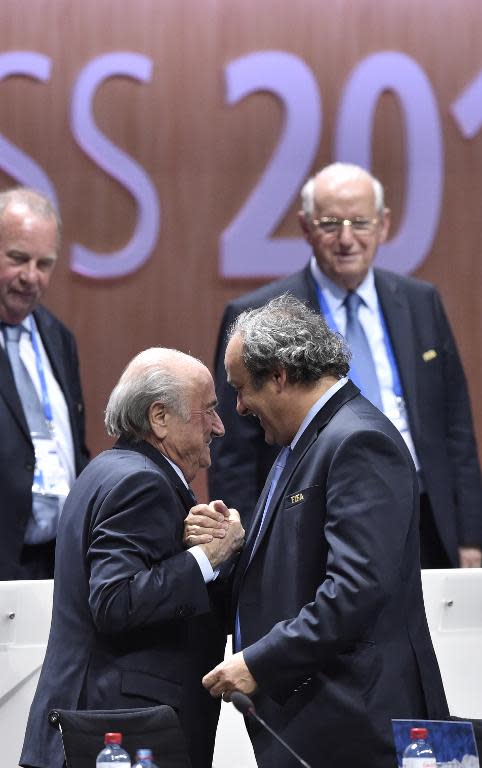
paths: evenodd
<path fill-rule="evenodd" d="M 480 467 L 464 371 L 436 289 L 411 277 L 380 269 L 374 272 L 425 489 L 440 539 L 450 562 L 457 566 L 458 546 L 482 546 Z M 245 309 L 260 307 L 285 292 L 319 311 L 307 266 L 230 302 L 216 350 L 216 392 L 226 436 L 211 447 L 209 493 L 237 507 L 245 526 L 276 451 L 264 442 L 256 419 L 236 413 L 234 391 L 224 370 L 226 330 Z"/>

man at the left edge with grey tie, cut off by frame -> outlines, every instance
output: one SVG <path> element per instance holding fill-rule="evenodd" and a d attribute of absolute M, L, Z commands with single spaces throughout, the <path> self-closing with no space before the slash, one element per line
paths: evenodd
<path fill-rule="evenodd" d="M 60 220 L 43 195 L 25 188 L 0 194 L 0 580 L 53 577 L 63 500 L 89 458 L 75 340 L 39 305 L 59 241 Z M 41 440 L 32 433 L 17 387 L 7 349 L 10 330 L 19 333 L 19 364 L 45 427 Z M 37 468 L 42 465 L 39 451 L 47 443 L 55 462 L 43 504 L 34 467 L 36 459 Z"/>

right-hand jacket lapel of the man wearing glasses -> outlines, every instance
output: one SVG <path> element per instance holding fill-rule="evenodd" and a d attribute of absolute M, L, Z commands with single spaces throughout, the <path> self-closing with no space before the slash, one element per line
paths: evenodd
<path fill-rule="evenodd" d="M 419 432 L 416 414 L 417 387 L 415 380 L 416 328 L 413 327 L 412 315 L 407 299 L 400 289 L 399 281 L 388 272 L 374 270 L 375 287 L 386 320 L 393 352 L 398 366 L 398 373 L 405 396 L 405 405 L 410 417 L 410 428 Z M 400 333 L 400 328 L 403 332 Z"/>

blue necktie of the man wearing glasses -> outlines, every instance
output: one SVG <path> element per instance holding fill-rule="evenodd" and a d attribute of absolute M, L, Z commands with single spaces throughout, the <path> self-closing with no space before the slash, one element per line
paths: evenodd
<path fill-rule="evenodd" d="M 362 301 L 360 296 L 354 292 L 348 293 L 344 301 L 346 308 L 345 339 L 353 355 L 351 376 L 355 384 L 360 387 L 362 394 L 382 411 L 382 398 L 375 363 L 368 339 L 358 317 L 358 310 Z"/>

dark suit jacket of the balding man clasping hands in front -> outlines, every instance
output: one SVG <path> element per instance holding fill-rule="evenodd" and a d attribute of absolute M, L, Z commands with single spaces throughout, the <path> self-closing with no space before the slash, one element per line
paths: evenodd
<path fill-rule="evenodd" d="M 20 764 L 62 768 L 52 708 L 169 704 L 193 768 L 210 767 L 219 705 L 201 676 L 220 657 L 208 588 L 182 544 L 192 505 L 144 442 L 119 441 L 77 479 L 60 519 L 52 625 Z"/>

